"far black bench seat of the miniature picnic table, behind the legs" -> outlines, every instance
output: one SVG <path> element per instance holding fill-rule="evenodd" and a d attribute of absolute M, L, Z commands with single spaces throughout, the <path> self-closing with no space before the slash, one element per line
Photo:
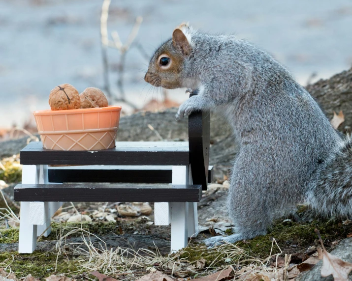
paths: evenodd
<path fill-rule="evenodd" d="M 48 169 L 49 182 L 171 183 L 172 169 Z M 208 170 L 208 183 L 213 167 Z"/>

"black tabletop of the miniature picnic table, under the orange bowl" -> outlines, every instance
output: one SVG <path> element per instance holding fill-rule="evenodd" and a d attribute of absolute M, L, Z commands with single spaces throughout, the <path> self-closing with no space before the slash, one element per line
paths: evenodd
<path fill-rule="evenodd" d="M 189 165 L 187 141 L 119 141 L 111 149 L 60 151 L 32 141 L 20 152 L 22 165 Z"/>

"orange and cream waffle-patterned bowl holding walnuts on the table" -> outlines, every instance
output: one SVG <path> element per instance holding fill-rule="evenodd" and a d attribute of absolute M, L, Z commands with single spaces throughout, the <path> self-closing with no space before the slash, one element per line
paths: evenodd
<path fill-rule="evenodd" d="M 99 150 L 116 146 L 120 106 L 33 112 L 43 147 Z"/>

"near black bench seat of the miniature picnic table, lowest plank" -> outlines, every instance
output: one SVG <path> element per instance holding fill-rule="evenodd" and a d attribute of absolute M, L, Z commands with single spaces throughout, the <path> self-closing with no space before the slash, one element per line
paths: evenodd
<path fill-rule="evenodd" d="M 18 184 L 15 201 L 199 202 L 201 185 Z"/>

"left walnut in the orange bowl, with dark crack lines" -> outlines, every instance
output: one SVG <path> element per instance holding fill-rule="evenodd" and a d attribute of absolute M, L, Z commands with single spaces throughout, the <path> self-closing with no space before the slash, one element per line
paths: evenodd
<path fill-rule="evenodd" d="M 79 109 L 81 100 L 74 86 L 61 84 L 51 90 L 49 105 L 51 110 Z"/>

